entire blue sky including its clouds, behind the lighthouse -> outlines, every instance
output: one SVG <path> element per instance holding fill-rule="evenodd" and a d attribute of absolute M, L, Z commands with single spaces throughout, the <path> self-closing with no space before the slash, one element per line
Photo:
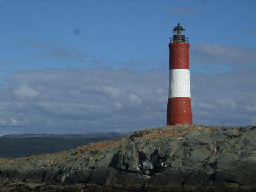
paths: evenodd
<path fill-rule="evenodd" d="M 178 22 L 190 43 L 194 123 L 255 124 L 255 7 L 253 0 L 3 0 L 0 134 L 165 125 L 168 43 Z"/>

